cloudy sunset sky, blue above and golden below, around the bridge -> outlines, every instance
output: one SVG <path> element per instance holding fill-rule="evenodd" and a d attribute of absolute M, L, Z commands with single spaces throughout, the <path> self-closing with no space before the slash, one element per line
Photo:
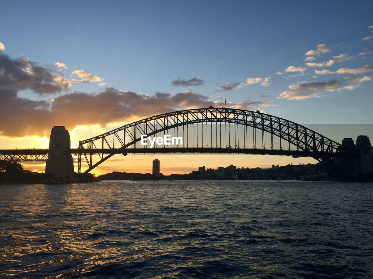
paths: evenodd
<path fill-rule="evenodd" d="M 65 126 L 77 147 L 79 139 L 147 116 L 225 99 L 227 107 L 332 125 L 320 129 L 338 142 L 359 133 L 373 140 L 372 1 L 0 0 L 0 6 L 0 148 L 47 148 L 54 125 Z M 343 132 L 335 128 L 340 124 Z M 93 172 L 151 172 L 155 157 L 164 174 L 189 173 L 196 162 L 214 168 L 315 162 L 115 155 Z"/>

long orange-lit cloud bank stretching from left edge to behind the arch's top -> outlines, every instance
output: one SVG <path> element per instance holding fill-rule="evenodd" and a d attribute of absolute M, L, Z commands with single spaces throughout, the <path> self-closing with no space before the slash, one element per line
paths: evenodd
<path fill-rule="evenodd" d="M 71 92 L 54 98 L 54 102 L 23 99 L 15 90 L 1 89 L 0 103 L 3 106 L 0 110 L 0 134 L 22 137 L 25 134 L 47 136 L 54 125 L 66 126 L 68 130 L 79 125 L 105 127 L 110 123 L 133 122 L 179 109 L 218 107 L 220 101 L 212 101 L 191 91 L 175 96 L 160 92 L 147 96 L 108 87 L 100 93 Z M 84 110 L 81 104 L 85 104 Z M 263 104 L 245 100 L 242 103 L 228 102 L 226 106 L 253 110 Z M 103 107 L 105 113 L 98 117 L 97 113 Z"/>

